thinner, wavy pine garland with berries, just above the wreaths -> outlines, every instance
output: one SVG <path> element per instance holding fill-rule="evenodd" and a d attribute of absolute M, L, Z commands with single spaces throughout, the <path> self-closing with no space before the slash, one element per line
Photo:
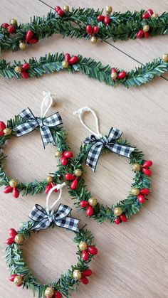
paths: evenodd
<path fill-rule="evenodd" d="M 124 85 L 125 87 L 135 87 L 143 85 L 157 76 L 168 71 L 168 54 L 162 55 L 161 58 L 154 59 L 135 70 L 125 72 L 112 68 L 110 65 L 103 65 L 91 58 L 83 58 L 82 55 L 73 55 L 66 53 L 48 54 L 44 57 L 31 58 L 29 62 L 7 63 L 6 60 L 0 60 L 0 76 L 6 79 L 11 78 L 39 78 L 46 73 L 55 73 L 61 70 L 70 73 L 83 73 L 88 78 L 95 78 L 100 82 L 115 87 Z"/>

